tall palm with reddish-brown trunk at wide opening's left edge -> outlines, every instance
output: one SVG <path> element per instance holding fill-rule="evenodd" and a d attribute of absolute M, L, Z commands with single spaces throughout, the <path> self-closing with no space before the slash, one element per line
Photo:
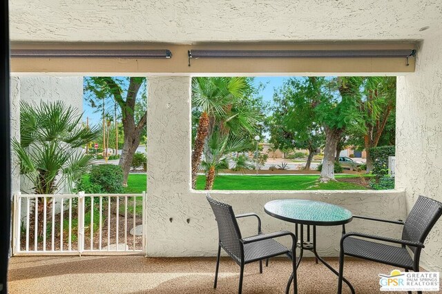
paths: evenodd
<path fill-rule="evenodd" d="M 251 124 L 250 119 L 244 119 L 235 107 L 249 88 L 244 77 L 195 77 L 193 79 L 192 104 L 200 110 L 200 118 L 192 153 L 192 188 L 195 188 L 206 137 L 212 133 L 215 126 L 220 126 L 220 132 L 227 134 L 235 120 L 242 119 L 247 124 Z M 236 113 L 232 114 L 235 111 Z"/>

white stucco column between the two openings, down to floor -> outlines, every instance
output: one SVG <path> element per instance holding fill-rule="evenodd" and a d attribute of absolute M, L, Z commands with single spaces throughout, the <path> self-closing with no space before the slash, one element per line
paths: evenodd
<path fill-rule="evenodd" d="M 180 236 L 189 230 L 191 78 L 148 77 L 147 86 L 147 254 L 170 256 L 186 250 Z"/>

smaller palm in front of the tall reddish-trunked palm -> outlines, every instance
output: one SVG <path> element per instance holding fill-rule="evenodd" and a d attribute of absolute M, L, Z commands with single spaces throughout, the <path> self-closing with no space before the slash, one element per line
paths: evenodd
<path fill-rule="evenodd" d="M 207 141 L 207 148 L 204 150 L 204 160 L 201 162 L 201 168 L 206 173 L 205 190 L 211 190 L 215 175 L 220 170 L 229 168 L 229 155 L 233 152 L 240 152 L 252 148 L 251 141 L 235 137 L 233 135 L 222 135 L 220 130 L 215 130 Z M 239 168 L 240 166 L 238 166 Z M 246 162 L 241 168 L 249 169 L 250 165 Z"/>

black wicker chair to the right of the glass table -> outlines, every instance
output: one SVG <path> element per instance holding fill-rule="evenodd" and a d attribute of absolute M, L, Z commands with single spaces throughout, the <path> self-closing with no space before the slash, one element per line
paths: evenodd
<path fill-rule="evenodd" d="M 403 225 L 402 238 L 392 239 L 363 233 L 344 234 L 340 239 L 338 293 L 341 293 L 343 285 L 344 255 L 397 266 L 404 268 L 405 271 L 419 271 L 419 257 L 424 247 L 423 242 L 441 215 L 442 203 L 424 196 L 419 196 L 405 222 L 354 215 L 354 218 L 359 219 L 401 224 Z M 367 239 L 400 244 L 401 246 L 372 242 Z M 413 256 L 405 246 L 410 248 Z"/>

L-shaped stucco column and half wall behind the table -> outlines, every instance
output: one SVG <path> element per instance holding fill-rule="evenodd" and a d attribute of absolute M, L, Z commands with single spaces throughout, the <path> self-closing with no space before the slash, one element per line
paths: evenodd
<path fill-rule="evenodd" d="M 148 256 L 215 255 L 218 231 L 204 192 L 190 190 L 191 113 L 189 77 L 148 77 Z M 317 199 L 345 206 L 356 215 L 403 219 L 403 191 L 213 191 L 236 213 L 256 212 L 265 232 L 294 229 L 263 211 L 272 199 Z M 243 235 L 256 233 L 256 221 L 240 221 Z M 318 250 L 338 255 L 340 227 L 318 228 Z M 347 231 L 399 237 L 394 225 L 354 220 Z"/>

